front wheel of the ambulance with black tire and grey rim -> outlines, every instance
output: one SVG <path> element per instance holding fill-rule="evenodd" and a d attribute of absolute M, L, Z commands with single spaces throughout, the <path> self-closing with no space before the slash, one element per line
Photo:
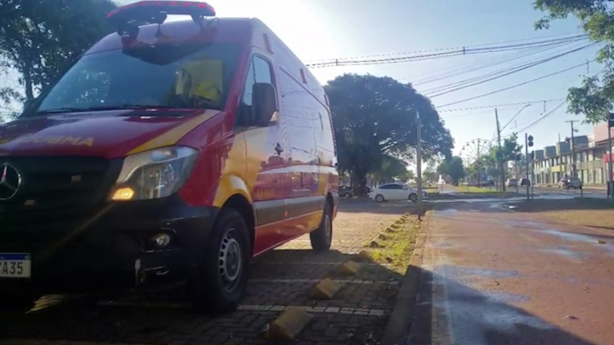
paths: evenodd
<path fill-rule="evenodd" d="M 235 310 L 247 289 L 251 257 L 252 243 L 243 216 L 223 208 L 188 287 L 192 307 L 215 314 Z"/>

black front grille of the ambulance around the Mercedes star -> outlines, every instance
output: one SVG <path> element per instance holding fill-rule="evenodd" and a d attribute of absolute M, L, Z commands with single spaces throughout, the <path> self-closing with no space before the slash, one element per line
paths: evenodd
<path fill-rule="evenodd" d="M 121 161 L 84 156 L 0 157 L 21 173 L 21 187 L 0 200 L 0 221 L 30 220 L 85 213 L 102 203 L 113 186 Z M 4 222 L 3 222 L 4 223 Z"/>

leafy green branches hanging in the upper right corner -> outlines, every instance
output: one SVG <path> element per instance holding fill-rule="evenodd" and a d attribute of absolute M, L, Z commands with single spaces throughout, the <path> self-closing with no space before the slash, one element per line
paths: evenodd
<path fill-rule="evenodd" d="M 574 15 L 593 41 L 605 43 L 596 60 L 605 64 L 603 76 L 584 78 L 578 88 L 569 88 L 567 110 L 585 114 L 585 121 L 606 121 L 614 102 L 614 12 L 606 0 L 535 0 L 535 9 L 548 13 L 535 23 L 536 29 L 550 28 L 550 21 Z"/>

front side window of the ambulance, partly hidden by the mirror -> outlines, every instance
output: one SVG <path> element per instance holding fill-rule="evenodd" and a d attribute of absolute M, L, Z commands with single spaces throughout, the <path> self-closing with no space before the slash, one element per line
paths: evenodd
<path fill-rule="evenodd" d="M 269 62 L 258 55 L 253 56 L 250 70 L 247 72 L 241 104 L 237 111 L 236 127 L 252 127 L 256 125 L 256 119 L 252 114 L 252 89 L 255 83 L 268 83 L 274 85 L 273 74 Z"/>

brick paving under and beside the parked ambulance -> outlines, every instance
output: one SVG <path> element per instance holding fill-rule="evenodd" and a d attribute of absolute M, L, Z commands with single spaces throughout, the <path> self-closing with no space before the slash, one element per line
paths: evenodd
<path fill-rule="evenodd" d="M 314 316 L 294 344 L 376 343 L 394 307 L 402 277 L 374 263 L 363 265 L 356 276 L 342 275 L 338 266 L 410 205 L 355 199 L 342 202 L 334 224 L 333 248 L 314 253 L 307 235 L 260 257 L 252 265 L 247 296 L 234 313 L 201 316 L 167 299 L 164 303 L 120 299 L 97 307 L 77 301 L 27 315 L 0 311 L 0 344 L 268 343 L 262 331 L 290 306 L 304 307 Z M 325 277 L 337 280 L 343 289 L 335 299 L 311 299 L 311 288 Z"/>

